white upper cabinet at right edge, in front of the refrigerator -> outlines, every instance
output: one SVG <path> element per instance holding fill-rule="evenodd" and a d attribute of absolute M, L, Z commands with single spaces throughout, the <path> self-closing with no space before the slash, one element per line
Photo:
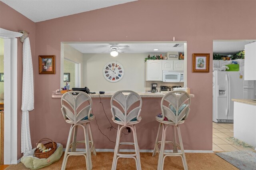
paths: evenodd
<path fill-rule="evenodd" d="M 256 42 L 244 45 L 244 80 L 256 80 Z"/>

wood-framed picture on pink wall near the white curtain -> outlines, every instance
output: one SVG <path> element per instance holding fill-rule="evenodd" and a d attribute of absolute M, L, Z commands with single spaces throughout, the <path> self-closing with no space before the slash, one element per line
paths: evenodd
<path fill-rule="evenodd" d="M 55 74 L 55 55 L 39 55 L 39 74 Z"/>

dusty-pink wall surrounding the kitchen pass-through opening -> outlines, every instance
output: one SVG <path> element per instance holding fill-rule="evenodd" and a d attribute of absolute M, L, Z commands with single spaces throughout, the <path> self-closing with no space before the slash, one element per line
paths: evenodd
<path fill-rule="evenodd" d="M 38 140 L 46 136 L 64 145 L 68 138 L 69 125 L 63 120 L 60 111 L 60 99 L 51 98 L 51 92 L 60 88 L 60 42 L 171 41 L 173 36 L 175 36 L 176 41 L 187 41 L 188 87 L 191 88 L 191 93 L 195 94 L 196 97 L 192 99 L 189 118 L 182 125 L 182 136 L 184 136 L 185 149 L 211 150 L 212 67 L 210 67 L 210 73 L 192 73 L 192 53 L 210 53 L 212 59 L 213 40 L 256 39 L 256 1 L 140 0 L 38 22 L 36 23 L 35 37 L 33 36 L 34 23 L 2 4 L 1 2 L 1 27 L 10 30 L 25 29 L 30 32 L 31 41 L 36 38 L 36 51 L 34 51 L 35 46 L 32 43 L 32 55 L 35 54 L 33 55 L 35 110 L 30 114 L 33 146 Z M 2 14 L 8 17 L 4 18 Z M 17 18 L 22 18 L 22 22 Z M 10 23 L 10 21 L 14 22 Z M 23 22 L 29 24 L 23 25 Z M 21 56 L 21 43 L 18 44 L 18 50 L 18 56 Z M 38 55 L 56 55 L 55 75 L 39 75 Z M 20 59 L 19 71 L 22 70 L 21 62 Z M 212 65 L 212 61 L 210 65 Z M 19 93 L 21 81 L 21 73 L 19 73 Z M 21 93 L 18 95 L 21 99 Z M 158 113 L 158 109 L 147 107 L 147 105 L 154 103 L 152 100 L 146 99 L 143 104 L 142 109 L 145 117 L 151 115 L 153 117 Z M 100 106 L 98 99 L 93 99 L 93 102 L 96 103 L 94 107 L 95 105 Z M 104 103 L 108 105 L 107 99 Z M 156 108 L 159 107 L 158 99 L 156 99 L 155 104 Z M 21 101 L 19 108 L 20 105 Z M 100 119 L 105 119 L 99 108 L 94 109 L 95 114 L 102 116 Z M 106 109 L 109 112 L 108 106 Z M 146 116 L 146 114 L 148 115 Z M 111 118 L 110 115 L 108 117 Z M 20 119 L 21 113 L 19 112 L 18 132 L 20 132 Z M 105 121 L 107 120 L 105 119 Z M 150 120 L 145 121 L 150 122 Z M 95 121 L 92 122 L 94 126 L 95 123 Z M 153 125 L 157 128 L 156 123 Z M 150 128 L 152 124 L 143 124 L 143 127 Z M 94 132 L 97 134 L 94 135 L 95 140 L 104 141 L 98 143 L 100 145 L 96 145 L 96 148 L 114 148 L 114 145 L 102 137 L 97 129 Z M 116 135 L 115 132 L 106 133 Z M 149 135 L 150 132 L 147 134 Z M 20 150 L 19 135 L 18 148 Z M 154 135 L 150 138 L 154 138 Z M 145 149 L 148 146 L 140 147 Z"/>

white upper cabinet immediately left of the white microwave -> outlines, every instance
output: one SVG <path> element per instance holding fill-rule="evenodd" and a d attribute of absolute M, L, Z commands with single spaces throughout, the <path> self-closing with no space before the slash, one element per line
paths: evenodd
<path fill-rule="evenodd" d="M 162 60 L 147 60 L 146 81 L 162 81 Z"/>

